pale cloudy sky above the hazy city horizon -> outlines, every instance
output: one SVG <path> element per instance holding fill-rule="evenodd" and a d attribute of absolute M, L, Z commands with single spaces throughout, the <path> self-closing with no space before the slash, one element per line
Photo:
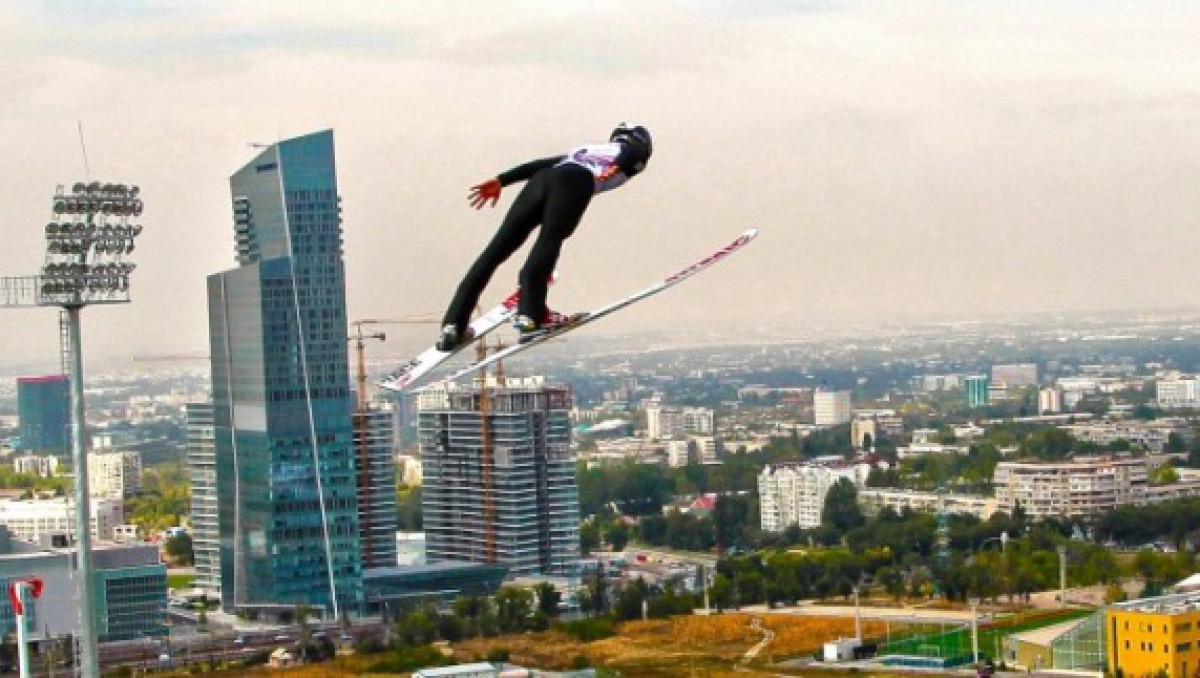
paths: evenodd
<path fill-rule="evenodd" d="M 468 188 L 647 125 L 551 305 L 588 308 L 761 229 L 589 332 L 1195 307 L 1200 4 L 0 4 L 0 275 L 42 264 L 55 185 L 137 184 L 133 304 L 85 355 L 204 354 L 252 143 L 332 128 L 350 319 L 440 317 L 503 210 Z M 485 302 L 515 286 L 523 252 Z M 0 316 L 0 366 L 56 361 Z M 380 354 L 432 341 L 395 326 Z"/>

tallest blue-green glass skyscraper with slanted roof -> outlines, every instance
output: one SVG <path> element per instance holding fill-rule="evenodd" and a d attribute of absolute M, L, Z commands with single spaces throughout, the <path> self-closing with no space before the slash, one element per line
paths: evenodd
<path fill-rule="evenodd" d="M 362 600 L 334 133 L 229 180 L 238 268 L 209 276 L 221 606 Z"/>

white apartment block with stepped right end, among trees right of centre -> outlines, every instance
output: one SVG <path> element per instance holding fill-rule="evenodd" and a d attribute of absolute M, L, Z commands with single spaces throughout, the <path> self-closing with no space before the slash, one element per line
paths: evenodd
<path fill-rule="evenodd" d="M 863 487 L 870 470 L 871 467 L 865 463 L 793 462 L 767 466 L 758 474 L 762 529 L 780 532 L 792 524 L 818 527 L 829 488 L 844 478 L 856 487 Z"/>

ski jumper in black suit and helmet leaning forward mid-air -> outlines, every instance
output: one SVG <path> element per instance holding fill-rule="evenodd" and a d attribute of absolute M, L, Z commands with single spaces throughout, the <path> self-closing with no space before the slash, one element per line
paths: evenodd
<path fill-rule="evenodd" d="M 502 173 L 500 186 L 526 181 L 499 230 L 458 284 L 446 310 L 444 324 L 460 332 L 470 322 L 492 274 L 541 226 L 529 257 L 521 269 L 521 300 L 517 313 L 536 323 L 546 322 L 548 280 L 558 262 L 563 241 L 575 233 L 592 196 L 623 185 L 646 168 L 649 155 L 635 144 L 611 142 L 588 144 L 568 155 L 527 162 Z"/>

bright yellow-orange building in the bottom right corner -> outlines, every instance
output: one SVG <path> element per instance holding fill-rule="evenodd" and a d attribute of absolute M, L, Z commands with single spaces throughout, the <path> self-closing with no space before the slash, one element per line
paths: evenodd
<path fill-rule="evenodd" d="M 1110 673 L 1195 676 L 1200 668 L 1200 593 L 1110 605 L 1105 636 Z"/>

